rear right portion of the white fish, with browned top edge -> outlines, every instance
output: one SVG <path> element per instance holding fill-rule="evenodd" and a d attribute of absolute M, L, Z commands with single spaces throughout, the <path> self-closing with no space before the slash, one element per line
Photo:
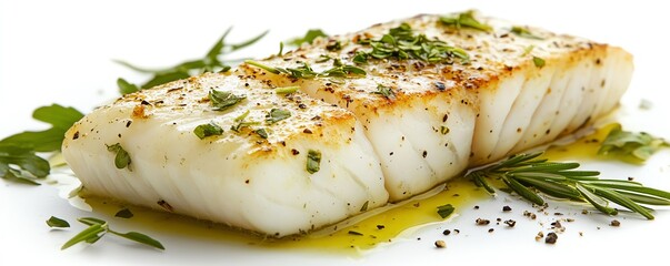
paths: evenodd
<path fill-rule="evenodd" d="M 352 64 L 358 51 L 371 50 L 361 39 L 380 40 L 404 23 L 463 49 L 467 64 L 381 59 L 361 65 L 364 79 L 341 82 L 249 71 L 300 84 L 308 95 L 352 111 L 381 160 L 391 201 L 574 132 L 612 110 L 628 88 L 632 57 L 620 48 L 538 28 L 523 28 L 532 32 L 523 38 L 511 32 L 513 23 L 479 19 L 492 30 L 458 29 L 439 16 L 418 16 L 320 39 L 262 62 L 284 69 L 308 63 L 317 72 L 332 68 L 324 58 Z M 343 47 L 333 52 L 333 43 Z M 379 85 L 394 90 L 394 96 L 376 94 Z"/>

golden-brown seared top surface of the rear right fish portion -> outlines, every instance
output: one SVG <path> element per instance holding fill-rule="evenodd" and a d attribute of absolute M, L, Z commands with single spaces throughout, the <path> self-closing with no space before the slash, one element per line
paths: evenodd
<path fill-rule="evenodd" d="M 369 110 L 391 108 L 396 104 L 433 93 L 457 94 L 457 101 L 473 102 L 477 90 L 494 90 L 496 84 L 517 71 L 540 69 L 533 62 L 542 59 L 546 64 L 563 64 L 574 66 L 584 58 L 591 58 L 597 64 L 611 50 L 623 52 L 619 48 L 596 43 L 587 39 L 556 34 L 539 28 L 518 25 L 494 18 L 478 17 L 491 31 L 479 31 L 469 28 L 457 29 L 440 21 L 440 16 L 421 14 L 406 20 L 380 23 L 363 31 L 317 39 L 311 45 L 288 52 L 282 57 L 271 57 L 263 61 L 270 66 L 299 68 L 308 63 L 314 71 L 331 69 L 332 60 L 339 59 L 344 64 L 356 65 L 367 72 L 364 79 L 327 79 L 321 81 L 319 90 L 331 92 L 340 106 L 349 106 L 353 102 Z M 428 63 L 421 60 L 379 59 L 368 63 L 356 63 L 357 52 L 370 51 L 370 45 L 361 44 L 361 40 L 379 40 L 390 29 L 408 23 L 417 34 L 426 34 L 429 39 L 440 40 L 469 54 L 467 62 L 454 59 L 450 63 Z M 520 27 L 537 38 L 524 38 L 513 33 L 512 28 Z M 333 51 L 329 45 L 339 43 L 341 50 Z M 260 69 L 253 71 L 256 76 L 266 76 L 269 81 L 282 84 L 310 82 L 303 79 L 282 80 Z M 536 71 L 537 72 L 537 71 Z M 284 76 L 286 78 L 286 76 Z M 529 76 L 531 78 L 531 76 Z M 397 101 L 387 101 L 376 94 L 378 85 L 394 90 Z M 468 90 L 474 93 L 466 95 L 454 90 Z"/>

